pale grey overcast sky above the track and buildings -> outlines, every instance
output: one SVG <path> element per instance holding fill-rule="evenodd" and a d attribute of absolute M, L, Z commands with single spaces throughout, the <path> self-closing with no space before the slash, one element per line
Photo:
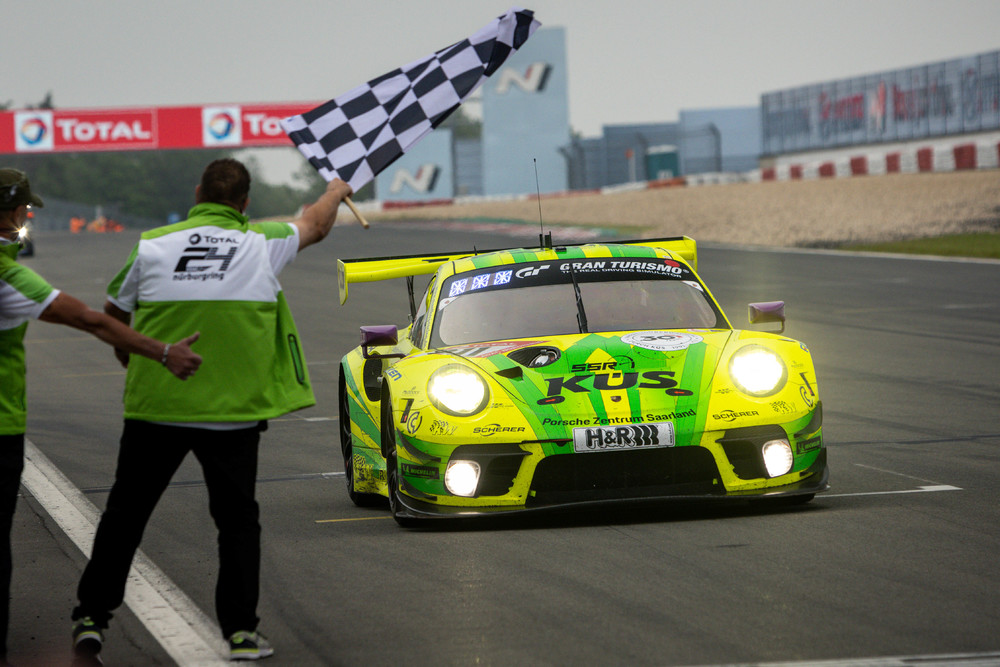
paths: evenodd
<path fill-rule="evenodd" d="M 471 35 L 506 0 L 0 0 L 0 103 L 326 100 Z M 574 131 L 1000 49 L 1000 0 L 525 0 L 566 30 Z M 281 149 L 284 150 L 284 149 Z"/>

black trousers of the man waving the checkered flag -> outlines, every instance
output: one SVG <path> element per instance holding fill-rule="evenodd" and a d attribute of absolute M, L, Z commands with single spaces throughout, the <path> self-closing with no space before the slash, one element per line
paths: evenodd
<path fill-rule="evenodd" d="M 149 517 L 191 451 L 201 464 L 209 512 L 219 531 L 215 611 L 222 634 L 257 628 L 260 523 L 254 491 L 264 427 L 212 431 L 125 420 L 115 482 L 77 588 L 74 620 L 90 616 L 107 627 L 112 610 L 125 598 L 128 571 Z"/>

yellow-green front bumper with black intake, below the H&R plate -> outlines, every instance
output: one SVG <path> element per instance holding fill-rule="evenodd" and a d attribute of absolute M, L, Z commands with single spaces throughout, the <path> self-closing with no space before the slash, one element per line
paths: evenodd
<path fill-rule="evenodd" d="M 413 518 L 495 515 L 663 500 L 808 499 L 829 488 L 823 413 L 785 424 L 704 432 L 697 445 L 574 453 L 569 440 L 447 446 L 399 433 L 399 494 Z M 764 443 L 787 439 L 790 472 L 769 478 Z M 443 470 L 474 460 L 482 471 L 472 498 L 450 495 Z"/>

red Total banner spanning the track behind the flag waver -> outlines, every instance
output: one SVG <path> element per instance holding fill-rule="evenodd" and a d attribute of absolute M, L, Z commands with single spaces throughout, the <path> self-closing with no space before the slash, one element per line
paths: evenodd
<path fill-rule="evenodd" d="M 0 154 L 290 146 L 279 124 L 316 102 L 0 112 Z"/>

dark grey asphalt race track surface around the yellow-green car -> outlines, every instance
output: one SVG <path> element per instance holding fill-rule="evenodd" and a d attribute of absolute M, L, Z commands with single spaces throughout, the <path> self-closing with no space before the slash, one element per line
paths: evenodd
<path fill-rule="evenodd" d="M 832 489 L 806 506 L 672 504 L 433 530 L 355 508 L 337 364 L 359 325 L 405 324 L 406 300 L 400 281 L 352 287 L 339 306 L 336 258 L 534 244 L 536 231 L 349 223 L 283 274 L 318 404 L 263 438 L 266 664 L 1000 662 L 1000 263 L 701 248 L 700 272 L 735 326 L 747 302 L 784 299 L 787 334 L 813 352 Z M 100 307 L 135 240 L 50 232 L 25 261 Z M 28 440 L 43 457 L 32 474 L 50 463 L 96 511 L 113 480 L 123 371 L 93 338 L 44 323 L 29 327 L 28 363 Z M 68 505 L 27 490 L 18 505 L 16 665 L 70 661 L 85 555 L 53 518 Z M 164 625 L 147 621 L 169 614 L 147 596 L 116 614 L 105 664 L 219 664 L 215 531 L 193 458 L 142 553 L 152 569 L 130 590 L 189 601 L 182 618 L 201 624 L 209 655 L 164 648 Z"/>

